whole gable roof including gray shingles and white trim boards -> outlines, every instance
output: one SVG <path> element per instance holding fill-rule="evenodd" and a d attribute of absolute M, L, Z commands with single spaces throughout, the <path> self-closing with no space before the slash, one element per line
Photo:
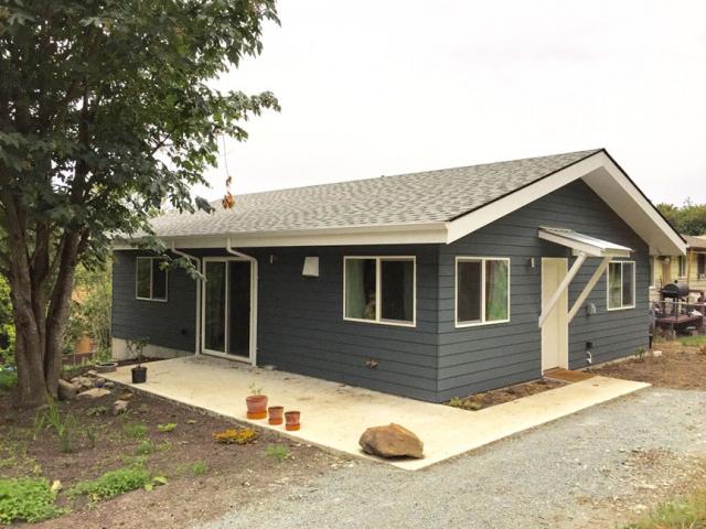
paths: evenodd
<path fill-rule="evenodd" d="M 603 173 L 631 190 L 606 187 Z M 224 246 L 225 237 L 239 247 L 451 242 L 579 177 L 623 218 L 625 204 L 603 194 L 634 195 L 628 202 L 646 213 L 628 224 L 655 251 L 683 252 L 678 234 L 602 149 L 237 195 L 231 209 L 167 213 L 152 228 L 180 247 Z M 641 233 L 643 217 L 652 226 Z"/>

